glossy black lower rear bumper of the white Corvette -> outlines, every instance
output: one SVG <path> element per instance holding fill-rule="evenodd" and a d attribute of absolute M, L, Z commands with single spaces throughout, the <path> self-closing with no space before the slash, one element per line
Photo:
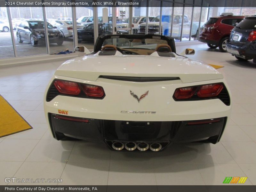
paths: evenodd
<path fill-rule="evenodd" d="M 68 119 L 65 119 L 67 118 Z M 227 117 L 196 121 L 118 121 L 103 119 L 70 119 L 48 113 L 53 137 L 65 136 L 92 141 L 145 141 L 145 142 L 193 142 L 209 138 L 212 143 L 220 140 Z M 64 119 L 62 119 L 64 118 Z M 76 121 L 78 119 L 78 121 Z M 86 120 L 88 122 L 81 122 Z"/>

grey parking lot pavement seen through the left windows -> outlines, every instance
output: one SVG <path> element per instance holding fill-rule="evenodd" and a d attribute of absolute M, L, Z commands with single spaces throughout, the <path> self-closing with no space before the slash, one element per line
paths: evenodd
<path fill-rule="evenodd" d="M 17 41 L 16 30 L 13 32 L 18 56 L 47 53 L 46 45 L 33 47 L 29 42 L 24 41 L 23 43 L 19 43 Z M 92 49 L 94 47 L 93 43 L 88 42 L 81 42 L 79 45 L 84 45 L 88 49 Z M 64 38 L 64 42 L 60 46 L 57 44 L 50 44 L 50 53 L 64 51 L 67 48 L 69 51 L 74 49 L 73 38 Z M 11 32 L 0 32 L 0 58 L 6 57 L 14 57 Z"/>

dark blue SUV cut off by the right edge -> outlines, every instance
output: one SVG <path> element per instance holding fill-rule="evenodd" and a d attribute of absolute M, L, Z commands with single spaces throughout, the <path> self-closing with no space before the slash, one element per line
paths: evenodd
<path fill-rule="evenodd" d="M 239 61 L 256 63 L 256 16 L 246 17 L 233 28 L 227 51 Z"/>

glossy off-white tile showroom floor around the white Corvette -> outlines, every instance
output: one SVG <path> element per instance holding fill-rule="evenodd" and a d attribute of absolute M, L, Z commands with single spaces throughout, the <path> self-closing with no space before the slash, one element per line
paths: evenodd
<path fill-rule="evenodd" d="M 198 42 L 177 46 L 178 52 L 185 48 L 196 50 L 191 59 L 224 66 L 218 70 L 230 86 L 233 109 L 221 142 L 123 153 L 98 143 L 54 140 L 43 96 L 61 62 L 1 68 L 0 94 L 33 129 L 0 138 L 0 185 L 7 184 L 6 177 L 62 179 L 59 184 L 70 185 L 221 185 L 225 177 L 243 176 L 245 185 L 256 185 L 256 64 Z"/>

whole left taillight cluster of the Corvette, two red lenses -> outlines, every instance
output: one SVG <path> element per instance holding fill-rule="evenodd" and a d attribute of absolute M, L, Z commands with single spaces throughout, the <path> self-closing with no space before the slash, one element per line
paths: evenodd
<path fill-rule="evenodd" d="M 54 89 L 57 89 L 57 92 Z M 103 99 L 105 96 L 105 92 L 100 86 L 56 79 L 49 88 L 47 96 L 51 95 L 54 98 L 59 94 L 58 92 L 82 98 Z"/>

